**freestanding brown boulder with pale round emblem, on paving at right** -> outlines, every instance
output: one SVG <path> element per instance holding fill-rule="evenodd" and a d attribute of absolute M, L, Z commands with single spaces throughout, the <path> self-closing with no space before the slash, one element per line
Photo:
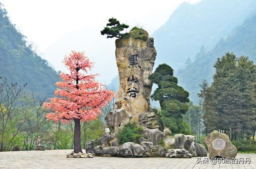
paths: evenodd
<path fill-rule="evenodd" d="M 212 131 L 204 138 L 204 143 L 208 147 L 208 157 L 235 158 L 237 149 L 232 145 L 228 135 L 217 130 Z"/>

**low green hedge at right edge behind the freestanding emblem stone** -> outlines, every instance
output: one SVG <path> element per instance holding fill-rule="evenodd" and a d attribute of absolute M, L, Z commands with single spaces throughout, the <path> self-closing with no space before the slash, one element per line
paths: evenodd
<path fill-rule="evenodd" d="M 236 146 L 238 151 L 256 151 L 255 140 L 238 140 L 232 141 L 232 144 Z"/>

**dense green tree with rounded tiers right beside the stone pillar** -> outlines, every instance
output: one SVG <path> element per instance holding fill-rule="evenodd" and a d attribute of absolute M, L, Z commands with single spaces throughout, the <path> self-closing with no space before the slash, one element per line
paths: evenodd
<path fill-rule="evenodd" d="M 172 133 L 189 133 L 186 131 L 189 127 L 182 117 L 188 111 L 189 93 L 178 85 L 173 69 L 167 64 L 161 64 L 150 75 L 150 80 L 158 85 L 151 97 L 160 102 L 161 119 L 165 127 Z"/>

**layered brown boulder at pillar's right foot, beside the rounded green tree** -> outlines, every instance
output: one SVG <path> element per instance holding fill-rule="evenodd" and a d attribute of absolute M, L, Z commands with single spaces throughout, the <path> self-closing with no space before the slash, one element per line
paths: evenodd
<path fill-rule="evenodd" d="M 139 124 L 149 129 L 159 128 L 158 115 L 154 112 L 146 112 L 139 115 Z"/>

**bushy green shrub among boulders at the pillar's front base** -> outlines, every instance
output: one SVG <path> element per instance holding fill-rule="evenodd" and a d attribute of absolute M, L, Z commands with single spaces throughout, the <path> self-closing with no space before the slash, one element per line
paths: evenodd
<path fill-rule="evenodd" d="M 126 142 L 134 142 L 139 144 L 139 139 L 142 137 L 143 128 L 141 126 L 137 126 L 136 123 L 129 123 L 120 129 L 117 139 L 120 144 Z"/>

